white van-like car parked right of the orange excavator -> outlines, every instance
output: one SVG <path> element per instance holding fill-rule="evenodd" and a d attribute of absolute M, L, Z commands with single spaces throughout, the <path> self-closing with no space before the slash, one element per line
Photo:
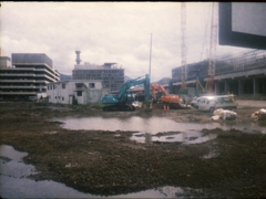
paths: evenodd
<path fill-rule="evenodd" d="M 233 95 L 202 96 L 197 102 L 198 109 L 208 112 L 217 108 L 234 109 L 237 105 Z"/>

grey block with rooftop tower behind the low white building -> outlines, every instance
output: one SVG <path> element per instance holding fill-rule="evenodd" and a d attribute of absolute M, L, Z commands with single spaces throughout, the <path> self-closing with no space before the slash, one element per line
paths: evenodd
<path fill-rule="evenodd" d="M 73 80 L 99 80 L 102 81 L 103 90 L 109 90 L 110 93 L 117 92 L 124 84 L 124 69 L 117 63 L 104 63 L 95 65 L 89 62 L 80 64 L 80 51 L 76 53 L 76 64 L 72 71 Z"/>

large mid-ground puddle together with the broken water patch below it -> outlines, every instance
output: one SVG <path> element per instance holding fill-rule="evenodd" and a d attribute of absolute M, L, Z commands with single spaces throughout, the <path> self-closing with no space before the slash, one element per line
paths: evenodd
<path fill-rule="evenodd" d="M 202 135 L 203 128 L 214 129 L 222 128 L 228 130 L 232 128 L 246 133 L 266 134 L 266 126 L 255 123 L 250 124 L 228 124 L 211 122 L 202 123 L 176 123 L 173 119 L 164 117 L 129 117 L 129 118 L 103 118 L 103 117 L 65 117 L 55 118 L 58 122 L 64 123 L 63 128 L 68 129 L 90 129 L 90 130 L 130 130 L 139 132 L 133 134 L 132 140 L 140 143 L 182 143 L 182 144 L 200 144 L 216 138 L 217 135 Z M 168 135 L 167 133 L 173 132 Z M 160 134 L 160 136 L 158 136 Z M 164 135 L 165 134 L 165 135 Z M 115 135 L 117 136 L 117 135 Z"/>

